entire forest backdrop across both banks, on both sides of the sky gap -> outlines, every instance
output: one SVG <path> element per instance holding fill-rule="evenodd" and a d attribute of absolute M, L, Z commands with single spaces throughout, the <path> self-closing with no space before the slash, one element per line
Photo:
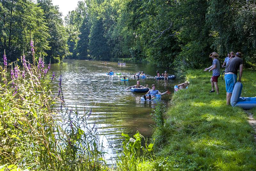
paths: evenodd
<path fill-rule="evenodd" d="M 85 0 L 65 21 L 51 0 L 1 0 L 0 53 L 15 60 L 30 39 L 36 55 L 151 62 L 177 70 L 209 64 L 216 51 L 255 63 L 254 0 Z"/>

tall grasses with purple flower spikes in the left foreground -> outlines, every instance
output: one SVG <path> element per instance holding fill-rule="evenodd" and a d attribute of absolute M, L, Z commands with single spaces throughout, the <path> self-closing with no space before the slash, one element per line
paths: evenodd
<path fill-rule="evenodd" d="M 52 98 L 54 77 L 42 59 L 37 66 L 20 61 L 10 64 L 10 82 L 6 65 L 0 68 L 0 170 L 107 170 L 97 127 L 86 122 L 91 111 L 65 107 L 61 78 Z M 56 103 L 62 109 L 53 110 Z"/>

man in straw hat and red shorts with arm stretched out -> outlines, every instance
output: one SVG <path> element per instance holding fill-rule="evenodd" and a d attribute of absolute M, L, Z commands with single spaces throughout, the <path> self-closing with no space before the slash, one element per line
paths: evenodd
<path fill-rule="evenodd" d="M 212 78 L 211 78 L 211 85 L 212 90 L 210 93 L 215 92 L 214 87 L 216 89 L 216 93 L 219 94 L 219 87 L 218 87 L 218 78 L 220 76 L 220 61 L 218 60 L 219 54 L 216 52 L 212 52 L 210 54 L 210 58 L 212 57 L 212 66 L 205 68 L 204 71 L 207 71 L 209 69 L 209 72 L 212 71 Z"/>

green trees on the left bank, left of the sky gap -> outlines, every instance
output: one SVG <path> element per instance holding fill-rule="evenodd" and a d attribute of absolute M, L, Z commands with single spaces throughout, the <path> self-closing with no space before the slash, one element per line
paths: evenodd
<path fill-rule="evenodd" d="M 67 38 L 61 13 L 51 0 L 0 1 L 0 54 L 5 49 L 10 61 L 23 51 L 31 61 L 30 40 L 45 61 L 60 61 L 68 54 Z"/>

